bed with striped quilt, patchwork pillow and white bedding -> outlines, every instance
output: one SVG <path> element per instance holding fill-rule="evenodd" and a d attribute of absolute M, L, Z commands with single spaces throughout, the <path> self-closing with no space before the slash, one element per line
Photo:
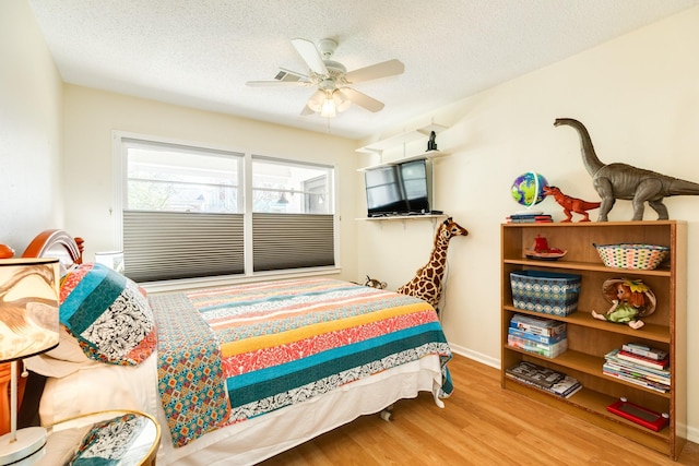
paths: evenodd
<path fill-rule="evenodd" d="M 43 425 L 135 409 L 163 428 L 158 465 L 246 465 L 420 391 L 440 407 L 451 394 L 449 345 L 419 299 L 324 277 L 149 296 L 80 251 L 49 230 L 23 254 L 66 267 L 61 343 L 25 361 L 47 377 Z"/>

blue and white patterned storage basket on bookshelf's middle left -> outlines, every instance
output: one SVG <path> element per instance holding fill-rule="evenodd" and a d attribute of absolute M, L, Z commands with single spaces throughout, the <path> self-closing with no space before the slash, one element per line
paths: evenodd
<path fill-rule="evenodd" d="M 559 316 L 578 309 L 580 275 L 519 271 L 510 273 L 510 286 L 516 308 Z"/>

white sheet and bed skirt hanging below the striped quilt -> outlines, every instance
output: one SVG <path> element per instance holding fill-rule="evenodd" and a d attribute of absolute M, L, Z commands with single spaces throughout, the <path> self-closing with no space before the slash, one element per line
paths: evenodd
<path fill-rule="evenodd" d="M 441 383 L 439 357 L 429 356 L 175 449 L 157 396 L 156 362 L 154 354 L 138 367 L 91 366 L 49 379 L 39 407 L 42 423 L 106 409 L 135 409 L 153 415 L 161 423 L 158 465 L 251 465 L 362 415 L 378 413 L 398 399 L 415 397 L 422 391 L 435 394 Z"/>

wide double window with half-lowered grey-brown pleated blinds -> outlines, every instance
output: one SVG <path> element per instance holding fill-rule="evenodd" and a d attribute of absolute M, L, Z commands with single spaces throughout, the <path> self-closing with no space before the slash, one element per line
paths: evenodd
<path fill-rule="evenodd" d="M 120 142 L 120 234 L 130 278 L 335 264 L 332 167 L 133 138 Z"/>

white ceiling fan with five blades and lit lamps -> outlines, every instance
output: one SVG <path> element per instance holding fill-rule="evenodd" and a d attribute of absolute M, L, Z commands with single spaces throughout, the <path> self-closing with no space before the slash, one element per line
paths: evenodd
<path fill-rule="evenodd" d="M 369 111 L 379 111 L 383 103 L 356 91 L 350 85 L 379 77 L 403 73 L 405 67 L 400 60 L 388 60 L 354 71 L 332 60 L 337 48 L 333 39 L 322 39 L 316 45 L 307 39 L 292 39 L 292 45 L 308 64 L 308 74 L 280 68 L 273 81 L 248 81 L 249 86 L 315 86 L 318 89 L 310 96 L 301 110 L 303 116 L 320 112 L 323 117 L 334 117 L 344 111 L 352 103 Z"/>

